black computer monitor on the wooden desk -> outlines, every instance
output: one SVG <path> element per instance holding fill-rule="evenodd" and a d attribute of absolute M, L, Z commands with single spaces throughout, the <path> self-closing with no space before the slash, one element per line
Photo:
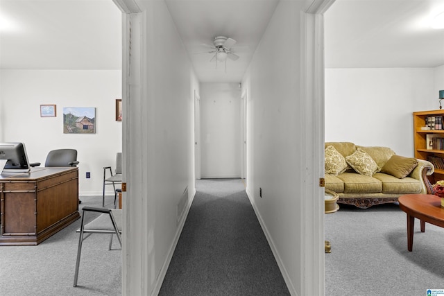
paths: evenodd
<path fill-rule="evenodd" d="M 31 171 L 24 143 L 0 143 L 1 159 L 6 160 L 5 167 L 3 168 L 5 173 L 26 173 Z"/>

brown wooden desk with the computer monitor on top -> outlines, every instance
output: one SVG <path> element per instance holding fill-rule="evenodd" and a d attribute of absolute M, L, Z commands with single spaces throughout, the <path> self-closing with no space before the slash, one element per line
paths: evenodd
<path fill-rule="evenodd" d="M 37 245 L 80 218 L 78 168 L 0 175 L 0 245 Z"/>

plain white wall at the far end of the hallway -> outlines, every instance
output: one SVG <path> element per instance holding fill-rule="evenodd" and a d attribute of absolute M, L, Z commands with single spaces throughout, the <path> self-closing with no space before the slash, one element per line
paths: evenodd
<path fill-rule="evenodd" d="M 239 83 L 200 84 L 201 177 L 241 176 Z"/>

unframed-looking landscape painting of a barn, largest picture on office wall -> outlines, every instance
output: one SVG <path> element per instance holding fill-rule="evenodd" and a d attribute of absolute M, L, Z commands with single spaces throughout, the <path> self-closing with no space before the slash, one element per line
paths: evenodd
<path fill-rule="evenodd" d="M 95 134 L 96 108 L 94 107 L 64 107 L 64 134 Z"/>

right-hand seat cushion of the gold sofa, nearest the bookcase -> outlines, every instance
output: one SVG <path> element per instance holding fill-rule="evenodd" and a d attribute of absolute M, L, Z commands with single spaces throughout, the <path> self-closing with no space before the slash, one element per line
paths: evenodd
<path fill-rule="evenodd" d="M 412 177 L 404 177 L 399 179 L 392 175 L 384 173 L 375 173 L 373 178 L 382 182 L 382 193 L 420 193 L 422 185 L 420 180 L 413 179 Z"/>

